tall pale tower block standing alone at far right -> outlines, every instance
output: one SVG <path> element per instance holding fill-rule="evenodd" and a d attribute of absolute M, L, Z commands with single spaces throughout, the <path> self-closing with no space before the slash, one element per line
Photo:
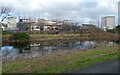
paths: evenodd
<path fill-rule="evenodd" d="M 115 27 L 115 16 L 106 16 L 101 18 L 101 29 L 113 29 Z"/>

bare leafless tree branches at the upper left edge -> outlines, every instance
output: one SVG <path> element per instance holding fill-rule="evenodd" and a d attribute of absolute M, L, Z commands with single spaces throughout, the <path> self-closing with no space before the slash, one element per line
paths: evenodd
<path fill-rule="evenodd" d="M 0 22 L 4 21 L 12 10 L 12 7 L 0 5 L 0 17 L 2 18 Z"/>

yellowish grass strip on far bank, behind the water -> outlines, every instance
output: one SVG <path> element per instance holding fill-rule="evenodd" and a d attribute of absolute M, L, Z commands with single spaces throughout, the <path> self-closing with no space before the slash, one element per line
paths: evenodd
<path fill-rule="evenodd" d="M 3 35 L 2 40 L 11 42 L 10 35 Z M 31 42 L 59 40 L 118 40 L 116 35 L 107 34 L 30 34 Z"/>

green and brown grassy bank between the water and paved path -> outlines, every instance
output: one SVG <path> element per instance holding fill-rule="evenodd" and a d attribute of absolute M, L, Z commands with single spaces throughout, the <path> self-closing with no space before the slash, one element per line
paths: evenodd
<path fill-rule="evenodd" d="M 118 57 L 118 46 L 98 47 L 86 51 L 60 52 L 27 60 L 3 63 L 3 73 L 61 73 Z"/>

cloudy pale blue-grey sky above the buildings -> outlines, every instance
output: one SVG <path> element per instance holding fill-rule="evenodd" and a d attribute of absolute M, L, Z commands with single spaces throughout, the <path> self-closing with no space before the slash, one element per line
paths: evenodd
<path fill-rule="evenodd" d="M 115 16 L 118 23 L 119 0 L 0 0 L 0 4 L 13 8 L 12 15 L 18 17 L 43 17 L 68 19 L 80 24 L 98 25 L 105 16 Z M 99 22 L 98 22 L 99 21 Z"/>

